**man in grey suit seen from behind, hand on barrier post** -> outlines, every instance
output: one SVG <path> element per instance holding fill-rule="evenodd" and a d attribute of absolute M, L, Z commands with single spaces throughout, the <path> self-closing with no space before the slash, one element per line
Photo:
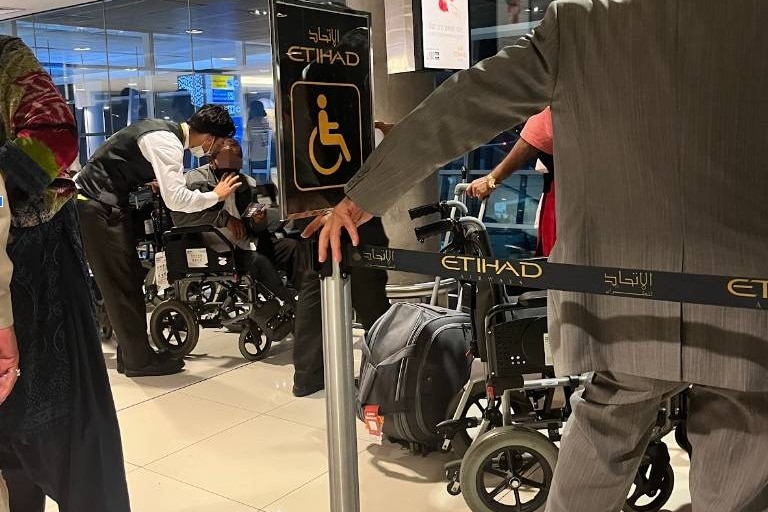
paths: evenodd
<path fill-rule="evenodd" d="M 555 2 L 394 128 L 306 234 L 324 225 L 321 259 L 329 244 L 338 258 L 342 229 L 356 243 L 414 180 L 551 105 L 553 262 L 768 275 L 765 20 L 765 0 Z M 547 511 L 619 510 L 659 401 L 688 384 L 693 510 L 768 510 L 768 313 L 550 299 L 558 373 L 596 373 L 573 400 Z"/>

